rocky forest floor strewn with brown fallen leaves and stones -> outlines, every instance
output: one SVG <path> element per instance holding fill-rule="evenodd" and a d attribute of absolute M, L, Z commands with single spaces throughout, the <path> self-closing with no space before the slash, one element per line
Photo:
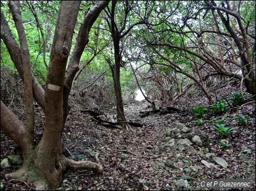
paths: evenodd
<path fill-rule="evenodd" d="M 214 92 L 218 99 L 224 98 L 221 91 Z M 206 111 L 200 118 L 191 109 L 207 104 L 204 99 L 180 100 L 172 106 L 182 112 L 143 118 L 139 112 L 151 109 L 146 101 L 126 103 L 127 120 L 142 124 L 130 131 L 102 126 L 81 112 L 86 108 L 73 103 L 63 134 L 65 155 L 96 162 L 98 152 L 104 175 L 68 171 L 58 190 L 213 190 L 201 188 L 201 179 L 252 179 L 250 188 L 237 190 L 255 190 L 255 101 L 242 107 L 241 103 L 240 109 Z M 114 109 L 105 113 L 114 114 Z M 43 128 L 40 115 L 36 125 L 39 137 Z M 216 120 L 224 116 L 225 126 L 234 128 L 226 137 L 214 129 Z M 239 116 L 245 116 L 245 124 L 238 123 Z M 13 141 L 1 133 L 1 161 L 13 148 Z M 4 177 L 14 169 L 1 168 L 5 190 L 34 190 L 32 182 Z"/>

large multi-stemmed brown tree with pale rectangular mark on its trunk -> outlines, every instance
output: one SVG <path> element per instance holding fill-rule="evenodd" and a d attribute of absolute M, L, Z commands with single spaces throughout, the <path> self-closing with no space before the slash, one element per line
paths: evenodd
<path fill-rule="evenodd" d="M 26 102 L 28 102 L 26 105 L 26 115 L 28 117 L 25 122 L 22 122 L 1 100 L 1 130 L 22 148 L 23 155 L 22 167 L 8 176 L 22 181 L 36 182 L 38 190 L 59 187 L 63 172 L 68 169 L 72 171 L 86 169 L 99 174 L 103 173 L 103 168 L 97 163 L 90 161 L 75 162 L 66 158 L 63 155 L 63 143 L 61 142 L 61 133 L 69 111 L 67 107 L 68 95 L 73 80 L 71 74 L 74 74 L 67 75 L 69 77 L 69 80 L 66 80 L 66 89 L 68 91 L 64 91 L 65 71 L 80 3 L 81 1 L 61 1 L 45 92 L 31 73 L 28 47 L 26 44 L 22 44 L 24 43 L 24 36 L 22 36 L 24 35 L 24 28 L 22 25 L 20 26 L 22 19 L 19 11 L 19 2 L 10 1 L 9 7 L 16 27 L 19 27 L 17 31 L 21 48 L 16 43 L 5 16 L 1 12 L 1 39 L 6 44 L 20 77 L 27 84 L 25 86 L 27 92 L 25 97 Z M 90 22 L 85 22 L 86 24 L 84 25 L 87 26 L 87 38 L 90 27 L 92 27 L 100 11 L 108 3 L 109 1 L 97 3 L 90 11 L 92 18 Z M 86 43 L 88 43 L 88 40 Z M 84 50 L 84 46 L 80 46 L 80 52 Z M 35 100 L 43 108 L 46 117 L 43 137 L 38 145 L 33 142 L 34 111 L 31 106 L 31 90 L 33 90 Z"/>

